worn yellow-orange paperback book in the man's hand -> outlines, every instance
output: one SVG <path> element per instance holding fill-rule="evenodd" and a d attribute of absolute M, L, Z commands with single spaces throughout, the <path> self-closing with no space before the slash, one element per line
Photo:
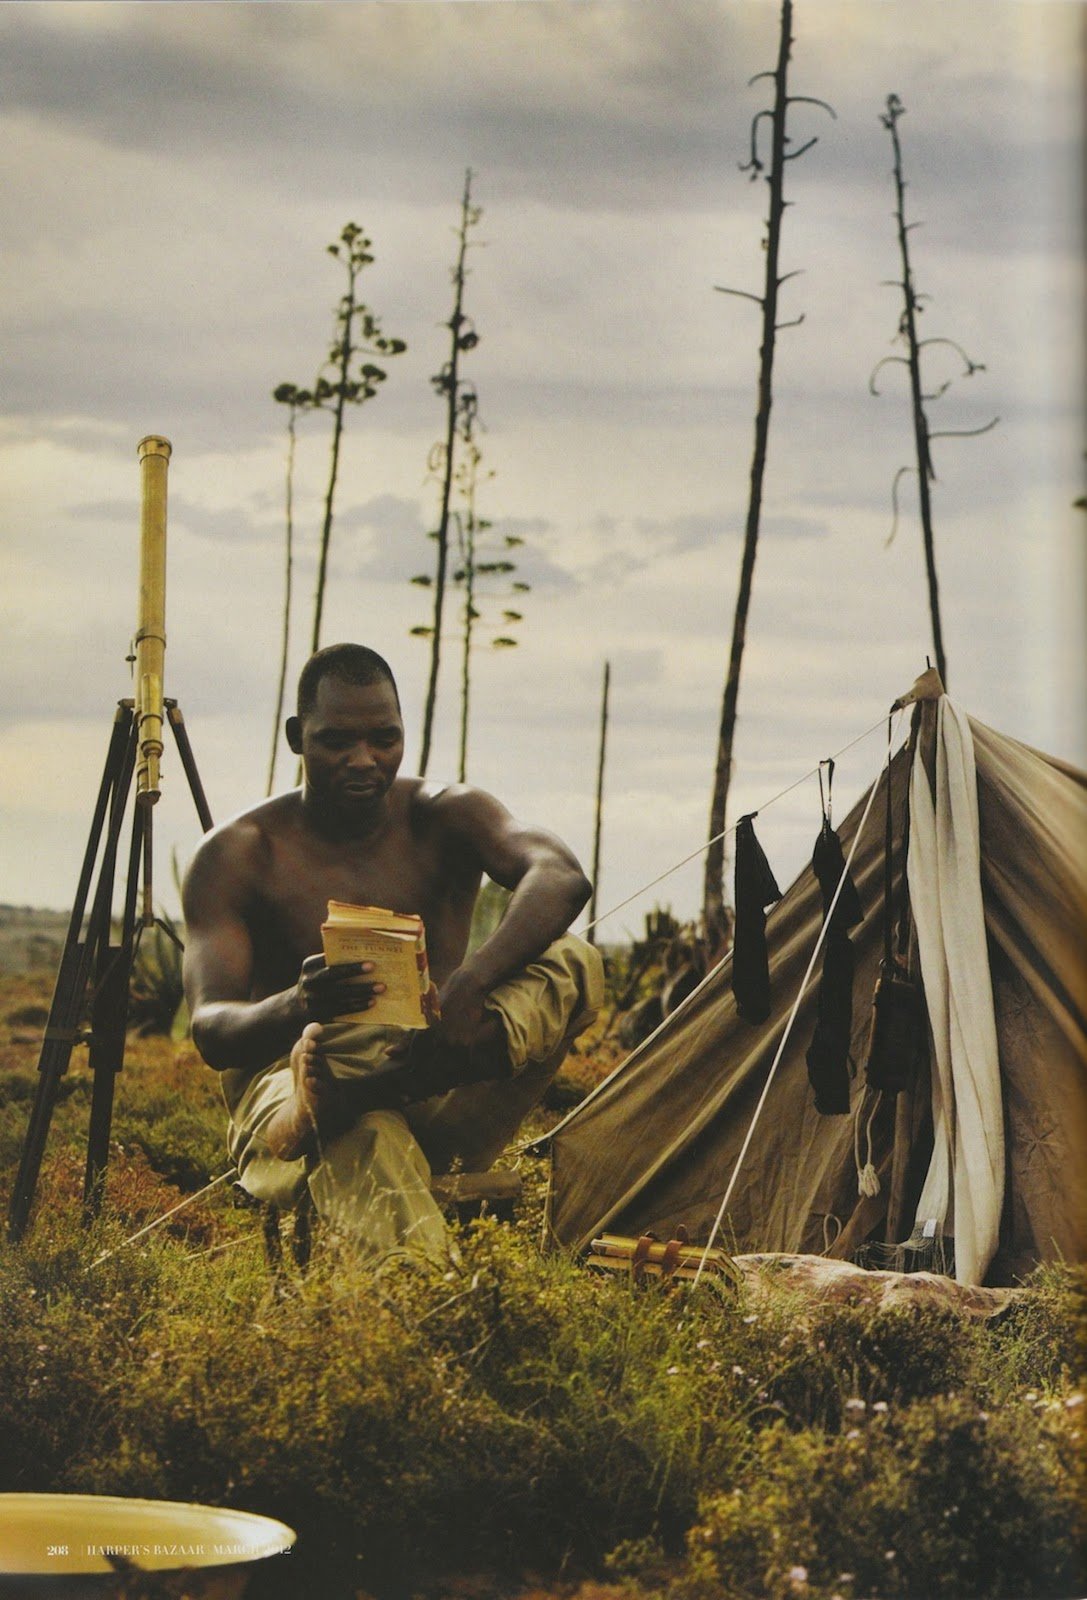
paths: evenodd
<path fill-rule="evenodd" d="M 373 962 L 375 982 L 386 986 L 367 1011 L 351 1011 L 339 1021 L 371 1022 L 375 1027 L 429 1026 L 434 1006 L 427 1000 L 431 970 L 421 917 L 381 906 L 328 901 L 328 920 L 320 925 L 320 936 L 330 966 Z"/>

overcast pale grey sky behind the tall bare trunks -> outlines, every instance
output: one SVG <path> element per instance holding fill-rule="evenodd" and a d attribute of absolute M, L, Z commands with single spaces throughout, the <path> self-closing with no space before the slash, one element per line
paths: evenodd
<path fill-rule="evenodd" d="M 373 240 L 360 293 L 407 339 L 347 422 L 322 642 L 381 650 L 416 762 L 464 170 L 483 210 L 479 510 L 523 538 L 514 651 L 474 667 L 469 779 L 591 854 L 612 662 L 600 909 L 696 850 L 751 461 L 767 187 L 740 170 L 773 67 L 772 0 L 6 3 L 0 6 L 0 901 L 66 907 L 136 621 L 136 443 L 173 442 L 166 693 L 216 819 L 264 794 L 283 589 L 282 381 L 312 382 L 341 293 L 325 246 Z M 887 94 L 906 106 L 908 214 L 933 429 L 953 698 L 1084 762 L 1082 99 L 1077 0 L 797 0 L 781 333 L 732 818 L 784 885 L 816 832 L 808 781 L 885 717 L 930 630 L 900 354 Z M 296 466 L 291 677 L 304 659 L 328 451 Z M 485 608 L 488 619 L 493 608 Z M 455 629 L 451 629 L 455 632 Z M 455 642 L 431 776 L 455 776 Z M 839 763 L 836 814 L 876 771 Z M 293 779 L 283 750 L 279 782 Z M 840 797 L 840 798 L 839 798 Z M 765 808 L 765 810 L 764 810 Z M 199 837 L 168 752 L 170 854 Z M 693 864 L 655 902 L 696 910 Z"/>

